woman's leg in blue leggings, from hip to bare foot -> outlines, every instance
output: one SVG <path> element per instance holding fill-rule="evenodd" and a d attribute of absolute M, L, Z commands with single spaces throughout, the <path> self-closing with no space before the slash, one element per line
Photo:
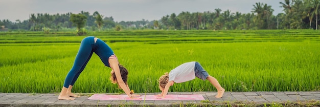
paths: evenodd
<path fill-rule="evenodd" d="M 80 73 L 83 71 L 84 67 L 86 66 L 86 63 L 92 56 L 92 45 L 90 43 L 89 38 L 84 38 L 81 41 L 80 49 L 77 53 L 74 65 L 72 69 L 68 72 L 68 74 L 65 77 L 63 88 L 61 90 L 61 93 L 58 97 L 58 99 L 64 99 L 64 100 L 74 100 L 74 98 L 71 98 L 67 95 L 68 88 L 72 83 L 76 81 Z M 74 81 L 74 82 L 73 82 Z M 70 87 L 71 92 L 72 87 Z"/>

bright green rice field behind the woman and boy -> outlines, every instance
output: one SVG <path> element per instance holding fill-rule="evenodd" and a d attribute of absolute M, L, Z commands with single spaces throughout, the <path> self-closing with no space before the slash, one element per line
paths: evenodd
<path fill-rule="evenodd" d="M 129 71 L 135 93 L 161 92 L 157 79 L 198 61 L 229 92 L 320 91 L 320 31 L 108 31 L 90 32 L 108 44 Z M 0 92 L 59 93 L 80 41 L 74 32 L 0 32 Z M 123 93 L 111 69 L 94 54 L 75 93 Z M 209 81 L 175 83 L 169 92 L 216 91 Z"/>

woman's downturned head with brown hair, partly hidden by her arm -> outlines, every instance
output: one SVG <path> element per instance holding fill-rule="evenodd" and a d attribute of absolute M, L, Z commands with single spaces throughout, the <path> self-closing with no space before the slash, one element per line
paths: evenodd
<path fill-rule="evenodd" d="M 121 78 L 122 78 L 123 82 L 125 84 L 127 84 L 128 70 L 126 68 L 124 68 L 122 65 L 119 65 L 119 69 L 120 69 L 120 74 L 121 74 Z M 112 83 L 117 83 L 119 85 L 118 80 L 117 80 L 117 76 L 114 71 L 111 72 L 110 80 Z"/>

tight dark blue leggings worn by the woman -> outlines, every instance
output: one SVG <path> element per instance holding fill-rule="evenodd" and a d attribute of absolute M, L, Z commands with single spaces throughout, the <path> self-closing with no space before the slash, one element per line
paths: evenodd
<path fill-rule="evenodd" d="M 78 79 L 80 73 L 87 65 L 93 52 L 96 50 L 97 45 L 95 44 L 94 36 L 88 36 L 82 39 L 80 49 L 76 56 L 74 65 L 69 73 L 66 75 L 63 87 L 68 88 L 69 85 L 74 85 Z"/>

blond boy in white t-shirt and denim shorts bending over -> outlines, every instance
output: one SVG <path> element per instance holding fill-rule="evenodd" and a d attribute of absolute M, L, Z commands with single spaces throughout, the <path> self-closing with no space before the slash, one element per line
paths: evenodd
<path fill-rule="evenodd" d="M 182 65 L 171 70 L 169 74 L 167 72 L 162 75 L 158 80 L 159 88 L 162 93 L 155 96 L 160 96 L 157 98 L 165 98 L 170 86 L 173 85 L 174 82 L 186 82 L 195 79 L 195 77 L 198 77 L 202 80 L 208 79 L 218 90 L 218 95 L 216 95 L 216 98 L 221 98 L 223 96 L 224 89 L 221 87 L 218 80 L 210 76 L 207 71 L 203 70 L 200 63 L 196 61 L 183 63 Z"/>

